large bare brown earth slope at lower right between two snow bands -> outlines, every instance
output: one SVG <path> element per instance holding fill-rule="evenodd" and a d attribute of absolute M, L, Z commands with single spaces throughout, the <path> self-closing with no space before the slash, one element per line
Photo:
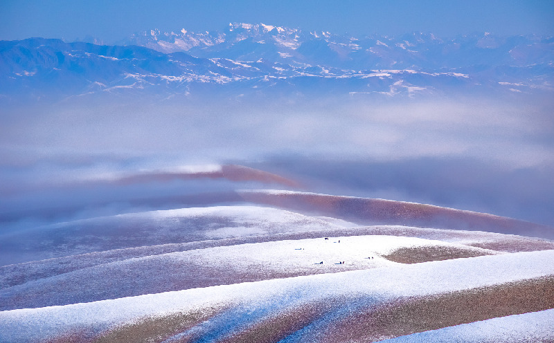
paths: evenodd
<path fill-rule="evenodd" d="M 375 342 L 548 308 L 554 308 L 554 277 L 398 299 L 366 308 L 333 324 L 323 342 Z"/>

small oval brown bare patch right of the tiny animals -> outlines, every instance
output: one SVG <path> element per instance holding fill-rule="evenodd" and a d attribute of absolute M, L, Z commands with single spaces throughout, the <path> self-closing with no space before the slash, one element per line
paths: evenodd
<path fill-rule="evenodd" d="M 383 255 L 385 259 L 398 263 L 421 263 L 443 261 L 445 259 L 461 259 L 489 255 L 488 252 L 447 246 L 423 246 L 400 248 L 390 254 Z"/>

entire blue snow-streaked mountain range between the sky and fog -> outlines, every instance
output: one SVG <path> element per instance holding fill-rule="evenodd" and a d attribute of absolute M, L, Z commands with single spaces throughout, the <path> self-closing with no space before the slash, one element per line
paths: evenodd
<path fill-rule="evenodd" d="M 0 97 L 103 93 L 195 97 L 417 97 L 552 93 L 554 37 L 454 39 L 412 33 L 350 37 L 264 24 L 151 30 L 104 46 L 58 39 L 0 41 Z"/>

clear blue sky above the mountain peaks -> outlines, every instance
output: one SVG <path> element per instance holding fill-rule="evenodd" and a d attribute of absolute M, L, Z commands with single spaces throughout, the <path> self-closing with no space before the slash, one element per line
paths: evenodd
<path fill-rule="evenodd" d="M 231 21 L 262 22 L 334 33 L 442 37 L 474 32 L 554 35 L 554 1 L 0 1 L 0 39 L 73 40 L 92 35 L 107 43 L 141 30 L 217 30 Z"/>

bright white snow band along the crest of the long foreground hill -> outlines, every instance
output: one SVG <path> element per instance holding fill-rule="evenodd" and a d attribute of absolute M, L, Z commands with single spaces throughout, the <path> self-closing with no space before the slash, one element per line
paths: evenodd
<path fill-rule="evenodd" d="M 87 304 L 8 310 L 0 312 L 0 342 L 35 342 L 79 326 L 101 331 L 109 325 L 139 317 L 222 304 L 263 308 L 274 306 L 276 299 L 282 302 L 294 298 L 306 303 L 364 297 L 379 302 L 400 296 L 445 293 L 554 275 L 553 260 L 554 250 L 517 252 L 195 288 Z M 247 322 L 249 318 L 243 320 Z M 245 322 L 236 325 L 241 324 Z"/>

